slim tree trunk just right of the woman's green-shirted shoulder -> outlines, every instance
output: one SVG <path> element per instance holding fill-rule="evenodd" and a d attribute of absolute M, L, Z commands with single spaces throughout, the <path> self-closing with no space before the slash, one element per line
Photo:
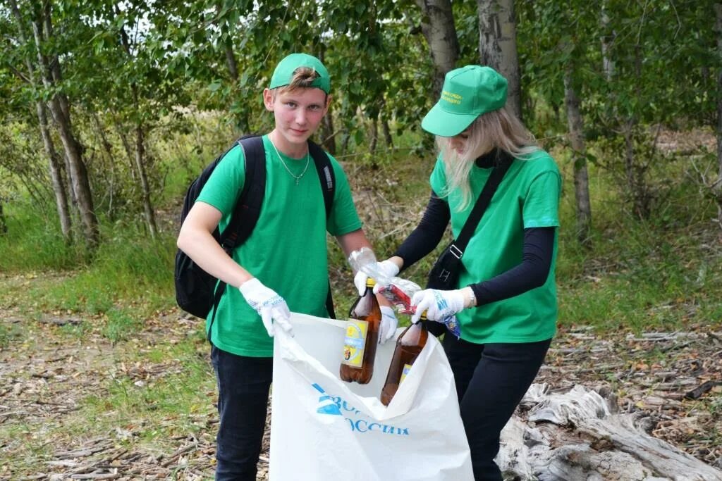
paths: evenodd
<path fill-rule="evenodd" d="M 577 201 L 577 239 L 582 244 L 591 245 L 591 203 L 589 201 L 584 124 L 579 110 L 579 99 L 573 86 L 573 69 L 571 63 L 567 65 L 564 76 L 564 100 L 567 105 L 569 136 L 573 149 L 574 193 Z"/>

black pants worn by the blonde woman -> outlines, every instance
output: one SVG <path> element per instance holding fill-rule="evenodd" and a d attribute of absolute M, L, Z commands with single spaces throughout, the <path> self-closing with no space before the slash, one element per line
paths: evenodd
<path fill-rule="evenodd" d="M 494 462 L 501 430 L 534 381 L 551 342 L 474 344 L 444 336 L 474 480 L 502 480 Z"/>

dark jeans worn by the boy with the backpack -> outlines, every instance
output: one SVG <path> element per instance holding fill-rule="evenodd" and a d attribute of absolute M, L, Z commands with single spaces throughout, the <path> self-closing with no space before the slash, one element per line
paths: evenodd
<path fill-rule="evenodd" d="M 216 480 L 256 481 L 273 358 L 236 356 L 213 345 L 211 361 L 218 382 Z"/>

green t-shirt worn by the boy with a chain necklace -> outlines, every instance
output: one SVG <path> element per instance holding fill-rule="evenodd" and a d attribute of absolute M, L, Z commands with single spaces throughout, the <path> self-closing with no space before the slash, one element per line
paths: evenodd
<path fill-rule="evenodd" d="M 336 175 L 336 190 L 326 223 L 321 182 L 313 159 L 296 185 L 268 137 L 264 136 L 263 141 L 267 173 L 261 216 L 251 236 L 233 251 L 233 260 L 282 296 L 292 312 L 328 317 L 326 230 L 339 236 L 361 228 L 348 180 L 336 159 L 329 156 Z M 305 159 L 280 155 L 294 175 L 303 172 Z M 219 162 L 197 199 L 221 211 L 221 231 L 230 221 L 244 178 L 243 149 L 235 146 Z M 207 321 L 206 330 L 209 324 Z M 213 344 L 229 353 L 273 355 L 273 340 L 261 317 L 237 288 L 228 288 L 223 294 L 211 334 Z"/>

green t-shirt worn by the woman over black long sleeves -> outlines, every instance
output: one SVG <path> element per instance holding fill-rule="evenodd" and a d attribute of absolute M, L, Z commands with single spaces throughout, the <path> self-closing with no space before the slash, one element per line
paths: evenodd
<path fill-rule="evenodd" d="M 471 168 L 472 201 L 463 211 L 460 190 L 445 200 L 451 209 L 454 239 L 474 208 L 491 168 Z M 559 226 L 561 176 L 547 152 L 538 150 L 524 160 L 514 159 L 499 185 L 490 206 L 461 257 L 459 287 L 487 281 L 522 262 L 523 229 Z M 430 177 L 432 189 L 445 193 L 446 176 L 441 157 Z M 549 277 L 543 286 L 518 296 L 492 302 L 456 314 L 461 337 L 471 343 L 531 343 L 549 339 L 556 332 L 557 289 L 554 266 L 557 260 L 557 234 Z"/>

